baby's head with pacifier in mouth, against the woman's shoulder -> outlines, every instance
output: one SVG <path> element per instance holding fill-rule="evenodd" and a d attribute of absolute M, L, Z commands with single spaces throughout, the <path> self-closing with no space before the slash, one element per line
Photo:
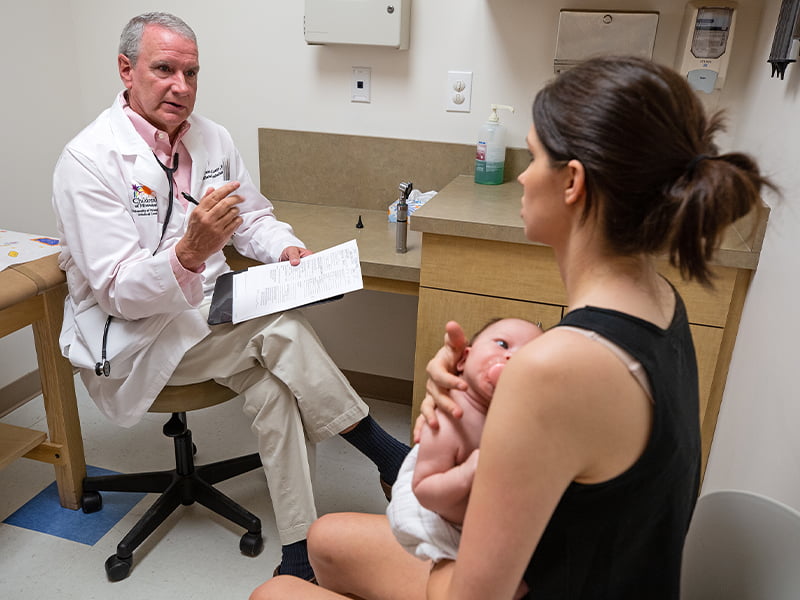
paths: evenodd
<path fill-rule="evenodd" d="M 470 392 L 488 404 L 511 356 L 542 333 L 541 327 L 524 319 L 495 319 L 484 325 L 457 365 Z"/>

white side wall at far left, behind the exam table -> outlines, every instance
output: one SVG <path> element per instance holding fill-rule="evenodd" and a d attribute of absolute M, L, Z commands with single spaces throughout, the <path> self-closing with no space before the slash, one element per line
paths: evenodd
<path fill-rule="evenodd" d="M 15 14 L 4 19 L 0 35 L 0 228 L 53 235 L 53 166 L 64 141 L 78 131 L 81 95 L 71 11 L 66 2 L 30 0 Z M 30 327 L 0 340 L 0 357 L 0 387 L 36 370 Z"/>

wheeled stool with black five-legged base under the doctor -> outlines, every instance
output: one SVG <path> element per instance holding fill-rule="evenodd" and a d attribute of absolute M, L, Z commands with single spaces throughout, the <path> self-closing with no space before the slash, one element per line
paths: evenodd
<path fill-rule="evenodd" d="M 125 579 L 133 566 L 133 551 L 178 507 L 199 502 L 215 513 L 244 527 L 247 532 L 239 549 L 247 556 L 257 556 L 264 547 L 261 520 L 228 496 L 214 488 L 225 481 L 261 467 L 258 453 L 239 458 L 195 466 L 192 432 L 186 425 L 186 412 L 227 402 L 236 393 L 213 381 L 192 385 L 167 386 L 148 412 L 172 413 L 164 425 L 164 435 L 175 443 L 175 469 L 150 473 L 133 473 L 86 477 L 83 480 L 83 512 L 102 507 L 101 491 L 160 493 L 161 496 L 139 519 L 117 545 L 117 553 L 106 560 L 106 574 L 111 581 Z"/>

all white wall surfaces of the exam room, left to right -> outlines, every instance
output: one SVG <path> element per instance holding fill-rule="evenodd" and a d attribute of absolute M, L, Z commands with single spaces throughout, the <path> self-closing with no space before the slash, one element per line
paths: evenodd
<path fill-rule="evenodd" d="M 199 37 L 201 75 L 197 110 L 224 123 L 258 178 L 258 127 L 473 143 L 492 102 L 512 104 L 506 119 L 511 145 L 524 147 L 529 106 L 552 74 L 560 8 L 660 12 L 655 59 L 672 64 L 683 2 L 674 0 L 415 0 L 411 47 L 399 52 L 368 47 L 307 46 L 303 3 L 277 0 L 29 0 L 15 6 L 19 27 L 0 41 L 6 90 L 0 126 L 6 166 L 2 226 L 54 233 L 49 206 L 55 158 L 68 138 L 110 104 L 120 89 L 116 73 L 119 31 L 127 19 L 158 8 L 183 16 Z M 800 403 L 792 381 L 798 361 L 798 298 L 794 251 L 800 215 L 793 195 L 800 175 L 798 114 L 800 66 L 786 81 L 769 78 L 766 57 L 779 0 L 740 0 L 739 29 L 725 90 L 714 103 L 731 115 L 723 144 L 752 152 L 785 191 L 773 205 L 767 239 L 742 319 L 706 490 L 742 487 L 800 508 L 800 452 L 794 429 Z M 762 16 L 763 13 L 763 16 Z M 31 33 L 35 30 L 35 33 Z M 350 68 L 372 67 L 372 103 L 349 101 Z M 443 108 L 448 70 L 474 72 L 471 113 Z M 35 151 L 34 148 L 35 147 Z M 398 173 L 398 181 L 403 174 Z M 15 210 L 17 206 L 24 210 Z M 332 305 L 334 306 L 334 305 Z M 321 336 L 340 366 L 411 378 L 413 299 L 364 293 L 331 310 Z M 404 333 L 390 335 L 400 315 Z M 374 319 L 378 339 L 365 339 Z M 382 338 L 380 337 L 382 336 Z M 383 339 L 385 338 L 385 339 Z M 410 341 L 409 341 L 410 340 Z M 381 344 L 380 352 L 365 351 Z M 0 385 L 29 370 L 20 344 L 0 342 Z M 395 347 L 397 346 L 397 347 Z"/>

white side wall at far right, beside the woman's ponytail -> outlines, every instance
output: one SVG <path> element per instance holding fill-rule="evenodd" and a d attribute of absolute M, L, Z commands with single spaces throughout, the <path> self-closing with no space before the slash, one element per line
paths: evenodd
<path fill-rule="evenodd" d="M 770 77 L 780 2 L 764 3 L 734 143 L 759 158 L 782 188 L 770 194 L 767 235 L 750 287 L 709 458 L 704 492 L 757 491 L 800 509 L 800 65 Z"/>

